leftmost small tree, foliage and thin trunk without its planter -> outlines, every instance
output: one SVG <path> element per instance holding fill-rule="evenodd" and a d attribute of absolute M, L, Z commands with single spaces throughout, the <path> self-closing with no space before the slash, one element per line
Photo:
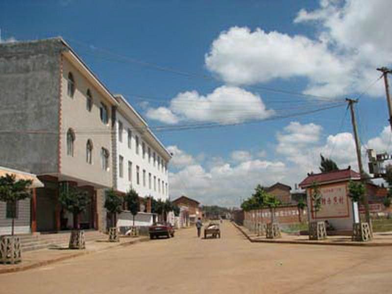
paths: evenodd
<path fill-rule="evenodd" d="M 30 197 L 29 186 L 32 180 L 16 180 L 15 174 L 6 174 L 0 177 L 0 201 L 8 202 L 13 208 L 11 213 L 12 229 L 11 235 L 14 235 L 14 226 L 16 218 L 16 208 L 19 200 Z"/>

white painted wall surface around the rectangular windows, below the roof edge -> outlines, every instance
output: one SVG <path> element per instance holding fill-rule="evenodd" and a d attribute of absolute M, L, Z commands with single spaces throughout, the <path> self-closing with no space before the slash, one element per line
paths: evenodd
<path fill-rule="evenodd" d="M 123 123 L 123 140 L 119 140 L 119 121 Z M 128 129 L 132 131 L 131 147 L 128 147 Z M 139 153 L 136 153 L 136 136 L 139 137 Z M 161 154 L 158 154 L 148 142 L 144 141 L 140 132 L 136 131 L 135 128 L 129 123 L 121 113 L 117 112 L 116 118 L 116 138 L 117 138 L 117 190 L 121 192 L 127 192 L 132 187 L 138 192 L 139 196 L 153 196 L 155 199 L 167 199 L 169 196 L 169 181 L 168 171 L 162 168 L 162 164 L 158 167 L 157 156 L 162 158 Z M 143 143 L 145 144 L 145 157 L 143 158 Z M 148 160 L 148 147 L 150 148 L 150 160 Z M 155 152 L 155 166 L 153 153 Z M 123 156 L 123 177 L 120 177 L 120 160 L 119 156 Z M 128 161 L 132 162 L 132 179 L 128 180 Z M 137 183 L 137 166 L 139 166 L 139 184 Z M 167 164 L 169 166 L 169 164 Z M 143 181 L 143 171 L 146 171 L 146 182 Z M 151 173 L 151 188 L 148 185 L 148 174 Z M 155 190 L 154 190 L 154 176 L 156 178 Z M 158 179 L 160 182 L 160 188 L 158 187 Z M 162 188 L 162 181 L 164 182 L 164 189 Z M 167 185 L 166 185 L 167 184 Z M 166 188 L 168 187 L 168 188 Z M 163 191 L 164 190 L 164 191 Z"/>

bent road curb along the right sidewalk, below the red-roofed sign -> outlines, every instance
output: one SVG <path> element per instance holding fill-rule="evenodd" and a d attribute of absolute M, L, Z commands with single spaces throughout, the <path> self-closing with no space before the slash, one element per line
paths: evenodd
<path fill-rule="evenodd" d="M 295 245 L 326 245 L 326 246 L 354 246 L 354 247 L 388 247 L 392 246 L 392 243 L 331 243 L 331 242 L 323 242 L 323 241 L 290 241 L 290 240 L 255 240 L 250 237 L 245 230 L 235 222 L 232 222 L 233 225 L 244 234 L 246 239 L 248 239 L 251 243 L 273 243 L 273 244 L 295 244 Z"/>

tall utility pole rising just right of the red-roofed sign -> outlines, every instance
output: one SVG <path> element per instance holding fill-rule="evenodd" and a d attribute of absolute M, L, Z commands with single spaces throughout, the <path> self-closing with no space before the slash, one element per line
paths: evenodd
<path fill-rule="evenodd" d="M 368 200 L 368 189 L 366 189 L 366 174 L 364 172 L 364 167 L 362 166 L 362 157 L 361 157 L 361 143 L 359 141 L 358 137 L 358 130 L 357 130 L 357 121 L 355 119 L 355 112 L 354 112 L 354 103 L 358 102 L 358 99 L 348 99 L 346 98 L 346 101 L 348 103 L 348 107 L 350 108 L 351 112 L 351 123 L 352 123 L 352 129 L 354 133 L 354 139 L 355 139 L 355 147 L 357 149 L 357 159 L 358 159 L 358 167 L 359 167 L 359 173 L 361 174 L 361 182 L 364 184 L 365 187 L 365 195 L 364 195 L 364 205 L 365 205 L 365 216 L 366 216 L 366 221 L 369 224 L 370 227 L 370 232 L 372 232 L 371 228 L 371 223 L 370 223 L 370 213 L 369 213 L 369 200 Z"/>

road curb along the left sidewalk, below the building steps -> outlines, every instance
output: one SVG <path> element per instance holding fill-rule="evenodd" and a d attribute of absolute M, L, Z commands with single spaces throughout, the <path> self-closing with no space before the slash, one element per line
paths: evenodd
<path fill-rule="evenodd" d="M 98 253 L 98 252 L 102 252 L 102 251 L 117 248 L 117 247 L 124 247 L 124 246 L 129 246 L 129 245 L 133 245 L 136 243 L 147 242 L 147 241 L 149 241 L 148 237 L 142 237 L 138 240 L 130 240 L 129 242 L 123 242 L 120 244 L 111 245 L 111 246 L 108 246 L 108 247 L 102 248 L 102 249 L 77 252 L 74 254 L 60 256 L 60 257 L 48 259 L 48 260 L 43 260 L 43 261 L 39 261 L 36 263 L 32 263 L 30 265 L 25 265 L 25 266 L 20 266 L 20 267 L 17 266 L 17 267 L 13 267 L 13 268 L 9 268 L 9 269 L 0 269 L 0 274 L 36 269 L 36 268 L 48 266 L 48 265 L 56 263 L 56 262 L 64 261 L 67 259 L 72 259 L 72 258 L 79 257 L 79 256 L 89 255 L 89 254 Z M 70 249 L 70 250 L 73 250 L 73 249 Z"/>

